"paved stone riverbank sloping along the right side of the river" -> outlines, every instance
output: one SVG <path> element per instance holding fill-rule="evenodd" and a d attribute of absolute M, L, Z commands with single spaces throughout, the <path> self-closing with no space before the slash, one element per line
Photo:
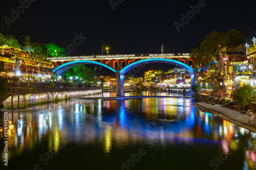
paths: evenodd
<path fill-rule="evenodd" d="M 211 105 L 207 104 L 206 102 L 198 102 L 193 104 L 193 106 L 200 111 L 217 114 L 218 117 L 225 119 L 228 122 L 256 133 L 256 120 L 254 120 L 252 123 L 248 123 L 247 114 L 229 109 L 227 107 L 221 107 L 219 104 Z"/>

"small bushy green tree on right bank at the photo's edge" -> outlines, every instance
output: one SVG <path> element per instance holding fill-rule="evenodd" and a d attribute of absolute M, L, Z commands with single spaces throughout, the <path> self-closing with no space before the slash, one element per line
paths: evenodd
<path fill-rule="evenodd" d="M 244 85 L 233 92 L 234 104 L 241 105 L 243 107 L 250 105 L 253 112 L 251 102 L 256 101 L 256 96 L 253 95 L 254 88 L 250 85 Z M 244 109 L 243 109 L 244 110 Z"/>

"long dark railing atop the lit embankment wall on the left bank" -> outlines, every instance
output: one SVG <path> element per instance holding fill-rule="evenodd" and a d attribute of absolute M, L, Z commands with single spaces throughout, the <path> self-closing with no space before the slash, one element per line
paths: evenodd
<path fill-rule="evenodd" d="M 25 93 L 43 93 L 43 92 L 63 92 L 63 91 L 81 91 L 81 90 L 100 90 L 102 87 L 67 87 L 67 88 L 10 88 L 9 94 L 25 94 Z"/>

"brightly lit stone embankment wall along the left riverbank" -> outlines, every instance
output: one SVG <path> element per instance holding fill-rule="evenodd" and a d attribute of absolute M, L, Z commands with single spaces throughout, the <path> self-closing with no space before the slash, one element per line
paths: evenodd
<path fill-rule="evenodd" d="M 77 90 L 77 91 L 60 91 L 60 92 L 45 92 L 45 93 L 35 93 L 35 94 L 27 94 L 19 95 L 19 106 L 21 107 L 26 105 L 32 104 L 40 104 L 40 103 L 47 103 L 53 102 L 63 99 L 70 99 L 76 96 L 83 96 L 83 95 L 92 95 L 102 93 L 101 89 L 95 90 Z M 23 102 L 24 101 L 24 102 Z M 22 104 L 23 102 L 23 104 Z M 11 96 L 4 101 L 4 106 L 9 107 L 12 104 Z M 13 95 L 13 106 L 18 106 L 18 96 Z"/>

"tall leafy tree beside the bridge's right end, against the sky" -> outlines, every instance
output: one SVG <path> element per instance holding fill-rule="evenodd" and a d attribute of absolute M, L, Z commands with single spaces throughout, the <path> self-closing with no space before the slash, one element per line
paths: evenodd
<path fill-rule="evenodd" d="M 193 68 L 206 66 L 208 63 L 216 61 L 220 53 L 225 53 L 231 48 L 240 45 L 245 41 L 246 36 L 239 30 L 231 29 L 227 33 L 213 31 L 207 34 L 198 48 L 191 48 L 190 57 L 193 60 Z M 215 70 L 220 76 L 220 71 L 216 64 L 213 64 Z"/>

